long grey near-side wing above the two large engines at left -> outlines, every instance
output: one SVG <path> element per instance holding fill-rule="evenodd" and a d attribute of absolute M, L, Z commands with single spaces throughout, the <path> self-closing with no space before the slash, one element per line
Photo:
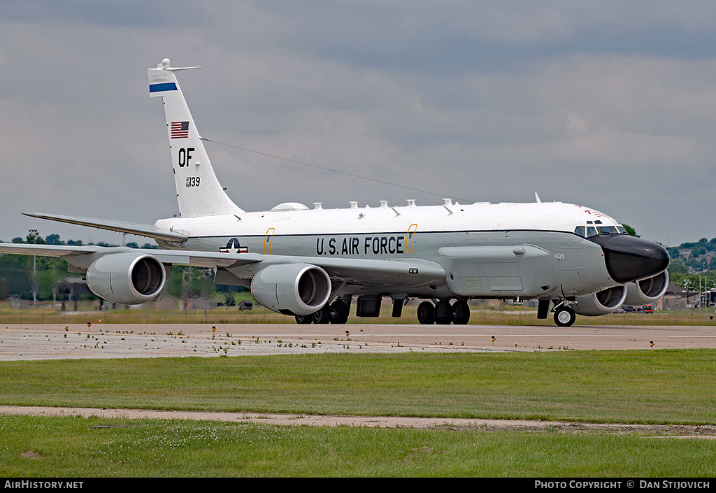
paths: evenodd
<path fill-rule="evenodd" d="M 326 259 L 292 255 L 231 254 L 193 250 L 135 249 L 127 246 L 64 246 L 0 243 L 0 254 L 62 257 L 74 267 L 84 270 L 100 257 L 133 253 L 151 255 L 163 264 L 189 265 L 223 269 L 240 279 L 251 279 L 264 267 L 277 264 L 313 264 L 325 269 L 337 282 L 387 286 L 427 286 L 445 284 L 445 271 L 435 262 L 421 259 Z"/>

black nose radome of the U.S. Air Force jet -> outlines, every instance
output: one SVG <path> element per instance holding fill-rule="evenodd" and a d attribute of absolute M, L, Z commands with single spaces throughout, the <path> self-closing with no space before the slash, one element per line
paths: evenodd
<path fill-rule="evenodd" d="M 616 282 L 631 282 L 654 277 L 669 267 L 669 252 L 658 243 L 628 234 L 592 236 L 604 251 L 604 263 Z"/>

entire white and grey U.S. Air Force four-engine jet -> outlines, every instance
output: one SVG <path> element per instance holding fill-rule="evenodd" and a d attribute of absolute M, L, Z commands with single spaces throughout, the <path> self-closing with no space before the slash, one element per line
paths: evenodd
<path fill-rule="evenodd" d="M 153 226 L 27 214 L 154 238 L 163 250 L 0 244 L 0 252 L 62 257 L 96 295 L 122 304 L 153 300 L 173 264 L 215 269 L 214 282 L 251 287 L 258 303 L 299 323 L 377 317 L 408 299 L 422 324 L 466 324 L 471 299 L 535 299 L 538 318 L 557 325 L 575 314 L 604 315 L 644 305 L 667 287 L 667 251 L 629 236 L 595 209 L 559 202 L 313 209 L 287 202 L 246 212 L 218 182 L 177 82 L 185 67 L 164 59 L 149 69 L 149 92 L 163 100 L 179 216 Z M 452 302 L 452 303 L 451 303 Z"/>

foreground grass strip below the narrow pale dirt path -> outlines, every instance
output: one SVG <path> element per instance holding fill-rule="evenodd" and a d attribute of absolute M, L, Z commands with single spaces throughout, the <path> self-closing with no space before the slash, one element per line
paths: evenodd
<path fill-rule="evenodd" d="M 636 435 L 0 416 L 0 477 L 713 477 L 715 458 Z"/>

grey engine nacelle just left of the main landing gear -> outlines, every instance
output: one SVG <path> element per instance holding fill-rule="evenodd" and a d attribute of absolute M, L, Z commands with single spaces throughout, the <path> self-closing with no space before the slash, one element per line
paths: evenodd
<path fill-rule="evenodd" d="M 286 315 L 309 315 L 326 305 L 331 278 L 311 264 L 271 265 L 251 279 L 251 295 L 266 308 Z"/>

